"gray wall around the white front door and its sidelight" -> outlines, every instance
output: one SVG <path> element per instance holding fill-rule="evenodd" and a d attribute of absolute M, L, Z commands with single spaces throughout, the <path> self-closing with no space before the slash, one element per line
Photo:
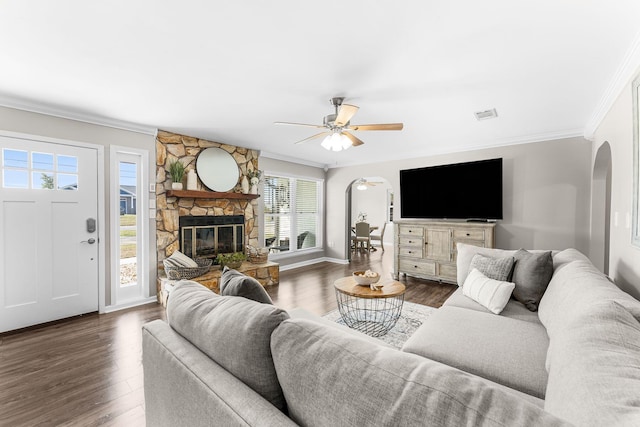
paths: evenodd
<path fill-rule="evenodd" d="M 99 225 L 105 227 L 105 301 L 110 304 L 111 300 L 111 274 L 110 274 L 110 253 L 111 239 L 109 226 L 109 209 L 111 189 L 110 189 L 110 171 L 109 171 L 109 147 L 111 145 L 119 145 L 124 147 L 133 147 L 138 149 L 149 150 L 149 165 L 155 165 L 155 137 L 153 135 L 142 134 L 138 132 L 130 132 L 112 127 L 99 126 L 75 120 L 68 120 L 44 114 L 31 113 L 12 108 L 0 107 L 0 129 L 11 132 L 19 132 L 28 135 L 44 136 L 48 138 L 65 139 L 76 142 L 86 142 L 95 145 L 102 145 L 104 149 L 104 171 L 105 171 L 105 201 L 104 224 Z M 149 182 L 155 182 L 155 168 L 149 168 Z M 155 218 L 149 219 L 149 294 L 156 294 L 156 252 L 155 252 Z M 154 266 L 151 268 L 151 266 Z"/>

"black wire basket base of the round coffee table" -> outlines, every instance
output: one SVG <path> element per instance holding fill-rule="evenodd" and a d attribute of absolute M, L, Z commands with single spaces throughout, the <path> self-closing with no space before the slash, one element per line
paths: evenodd
<path fill-rule="evenodd" d="M 338 310 L 344 323 L 372 337 L 385 335 L 402 313 L 404 294 L 390 298 L 359 298 L 336 289 Z"/>

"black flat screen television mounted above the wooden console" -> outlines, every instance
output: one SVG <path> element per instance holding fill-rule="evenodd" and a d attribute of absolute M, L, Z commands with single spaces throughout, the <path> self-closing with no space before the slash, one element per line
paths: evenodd
<path fill-rule="evenodd" d="M 401 170 L 400 216 L 502 219 L 502 159 Z"/>

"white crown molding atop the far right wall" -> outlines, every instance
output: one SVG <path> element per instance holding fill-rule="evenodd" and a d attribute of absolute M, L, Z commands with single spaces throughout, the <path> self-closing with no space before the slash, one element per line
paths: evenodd
<path fill-rule="evenodd" d="M 598 126 L 600 126 L 600 123 L 602 123 L 602 120 L 604 120 L 604 117 L 607 115 L 616 99 L 618 99 L 618 96 L 620 96 L 624 88 L 633 79 L 638 68 L 640 68 L 640 32 L 636 34 L 633 43 L 631 43 L 631 46 L 622 60 L 622 63 L 609 82 L 609 86 L 604 92 L 602 99 L 591 115 L 591 119 L 587 122 L 584 128 L 584 137 L 586 139 L 593 141 L 596 129 L 598 129 Z"/>

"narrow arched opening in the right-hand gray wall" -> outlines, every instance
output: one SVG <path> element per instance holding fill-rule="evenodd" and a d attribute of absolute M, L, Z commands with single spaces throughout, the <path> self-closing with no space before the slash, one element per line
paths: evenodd
<path fill-rule="evenodd" d="M 604 274 L 609 274 L 611 168 L 611 146 L 605 141 L 593 163 L 590 243 L 591 261 Z"/>

